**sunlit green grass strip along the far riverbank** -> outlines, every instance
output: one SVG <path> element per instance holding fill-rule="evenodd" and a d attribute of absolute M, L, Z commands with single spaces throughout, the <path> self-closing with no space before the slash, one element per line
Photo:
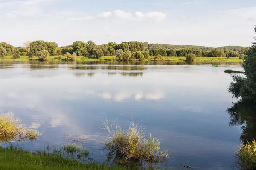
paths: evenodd
<path fill-rule="evenodd" d="M 60 61 L 59 59 L 55 59 L 58 56 L 49 56 L 49 61 Z M 102 60 L 112 60 L 113 56 L 102 56 L 99 59 L 95 59 L 92 56 L 84 57 L 84 56 L 77 56 L 77 61 L 102 61 Z M 116 59 L 116 57 L 115 57 Z M 37 57 L 34 56 L 21 56 L 20 59 L 13 59 L 12 56 L 6 56 L 5 59 L 1 60 L 38 60 Z M 65 57 L 62 56 L 63 61 L 65 61 Z M 185 62 L 186 57 L 163 57 L 164 61 L 172 61 L 172 62 Z M 145 59 L 145 61 L 154 61 L 154 57 L 149 57 Z M 226 59 L 226 57 L 196 57 L 196 62 L 212 62 L 212 61 L 226 61 L 226 62 L 243 62 L 242 59 L 239 57 L 230 57 L 230 59 Z"/>

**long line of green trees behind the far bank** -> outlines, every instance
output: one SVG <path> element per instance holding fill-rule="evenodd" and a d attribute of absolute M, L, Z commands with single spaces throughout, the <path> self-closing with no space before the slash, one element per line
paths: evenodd
<path fill-rule="evenodd" d="M 148 42 L 122 42 L 117 44 L 96 45 L 93 41 L 76 41 L 72 45 L 59 47 L 56 42 L 45 42 L 42 40 L 25 42 L 25 47 L 14 47 L 6 42 L 1 42 L 0 47 L 5 51 L 5 55 L 19 54 L 21 56 L 36 56 L 39 51 L 46 50 L 50 56 L 76 54 L 78 56 L 116 56 L 119 60 L 147 59 L 149 56 L 187 56 L 195 54 L 202 57 L 243 57 L 249 50 L 248 47 L 228 46 L 220 48 L 210 48 L 201 46 L 180 46 L 168 44 L 148 44 Z M 0 56 L 1 57 L 1 56 Z"/>

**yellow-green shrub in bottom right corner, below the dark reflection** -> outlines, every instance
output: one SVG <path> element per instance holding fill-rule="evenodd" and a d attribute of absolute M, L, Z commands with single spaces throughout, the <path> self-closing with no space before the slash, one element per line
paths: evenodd
<path fill-rule="evenodd" d="M 242 170 L 256 169 L 256 142 L 243 143 L 236 152 L 236 166 Z"/>

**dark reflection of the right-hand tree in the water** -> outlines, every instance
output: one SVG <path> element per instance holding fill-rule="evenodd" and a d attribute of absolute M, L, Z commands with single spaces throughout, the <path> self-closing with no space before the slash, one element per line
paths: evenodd
<path fill-rule="evenodd" d="M 256 139 L 256 104 L 238 101 L 227 109 L 230 115 L 230 126 L 241 126 L 241 141 L 250 142 Z"/>

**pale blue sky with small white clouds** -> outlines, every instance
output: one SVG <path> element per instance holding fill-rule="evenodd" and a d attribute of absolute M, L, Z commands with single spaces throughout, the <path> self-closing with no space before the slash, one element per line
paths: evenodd
<path fill-rule="evenodd" d="M 250 46 L 256 0 L 0 0 L 0 42 Z"/>

